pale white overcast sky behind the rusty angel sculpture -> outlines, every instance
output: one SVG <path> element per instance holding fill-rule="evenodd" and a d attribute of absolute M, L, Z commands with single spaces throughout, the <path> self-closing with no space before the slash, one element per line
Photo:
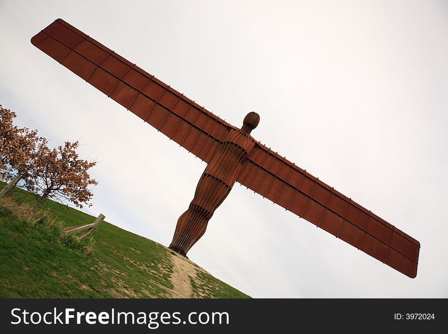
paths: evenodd
<path fill-rule="evenodd" d="M 205 163 L 30 43 L 63 18 L 422 244 L 400 272 L 235 185 L 189 258 L 253 297 L 448 297 L 448 2 L 0 0 L 0 104 L 97 158 L 94 206 L 167 246 Z M 151 158 L 153 157 L 153 158 Z"/>

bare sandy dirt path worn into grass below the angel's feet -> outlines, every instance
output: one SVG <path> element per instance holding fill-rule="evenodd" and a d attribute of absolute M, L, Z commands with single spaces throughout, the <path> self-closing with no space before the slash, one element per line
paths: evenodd
<path fill-rule="evenodd" d="M 194 278 L 196 276 L 195 267 L 184 257 L 171 252 L 171 261 L 173 261 L 173 275 L 171 276 L 171 282 L 174 285 L 172 290 L 179 298 L 190 298 L 191 293 L 191 276 Z"/>

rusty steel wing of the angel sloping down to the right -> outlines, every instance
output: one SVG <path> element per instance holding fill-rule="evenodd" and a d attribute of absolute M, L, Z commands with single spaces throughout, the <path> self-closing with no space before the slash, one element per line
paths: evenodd
<path fill-rule="evenodd" d="M 404 275 L 417 275 L 417 240 L 266 146 L 256 143 L 237 181 Z"/>

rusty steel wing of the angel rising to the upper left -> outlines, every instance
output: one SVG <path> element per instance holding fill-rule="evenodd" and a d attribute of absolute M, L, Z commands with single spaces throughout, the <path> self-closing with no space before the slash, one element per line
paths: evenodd
<path fill-rule="evenodd" d="M 31 42 L 207 163 L 233 128 L 62 19 Z"/>

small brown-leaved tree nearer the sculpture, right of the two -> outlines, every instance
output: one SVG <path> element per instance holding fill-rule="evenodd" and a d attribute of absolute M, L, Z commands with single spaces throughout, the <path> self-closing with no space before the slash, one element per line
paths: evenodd
<path fill-rule="evenodd" d="M 70 201 L 80 208 L 83 203 L 92 205 L 89 201 L 93 193 L 88 186 L 98 183 L 90 178 L 88 169 L 96 162 L 79 159 L 76 153 L 78 146 L 78 141 L 66 141 L 53 149 L 48 148 L 46 143 L 38 145 L 30 168 L 33 184 L 27 186 L 29 191 L 36 194 L 38 204 L 53 198 L 62 203 Z"/>

